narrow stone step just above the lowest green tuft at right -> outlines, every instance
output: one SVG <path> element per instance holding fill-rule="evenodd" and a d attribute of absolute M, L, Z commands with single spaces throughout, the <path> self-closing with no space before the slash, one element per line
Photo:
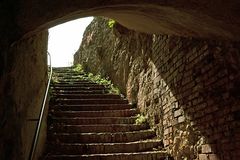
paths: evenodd
<path fill-rule="evenodd" d="M 105 110 L 105 111 L 50 111 L 56 117 L 129 117 L 136 115 L 138 110 Z"/>

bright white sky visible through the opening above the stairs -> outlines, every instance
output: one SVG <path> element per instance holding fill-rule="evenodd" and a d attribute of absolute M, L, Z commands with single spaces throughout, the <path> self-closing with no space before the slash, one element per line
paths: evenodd
<path fill-rule="evenodd" d="M 81 18 L 50 28 L 48 52 L 53 67 L 67 67 L 73 64 L 73 55 L 79 49 L 83 33 L 93 17 Z"/>

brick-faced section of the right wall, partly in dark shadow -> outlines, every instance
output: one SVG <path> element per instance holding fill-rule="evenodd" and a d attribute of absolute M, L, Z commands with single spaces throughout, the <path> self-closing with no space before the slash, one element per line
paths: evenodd
<path fill-rule="evenodd" d="M 239 159 L 239 43 L 154 39 L 165 146 L 179 159 Z"/>

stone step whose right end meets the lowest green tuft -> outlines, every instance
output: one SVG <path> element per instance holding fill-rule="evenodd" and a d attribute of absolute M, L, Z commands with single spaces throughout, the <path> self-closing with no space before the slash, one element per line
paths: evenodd
<path fill-rule="evenodd" d="M 49 117 L 52 123 L 69 124 L 69 125 L 87 125 L 87 124 L 133 124 L 135 117 L 72 117 L 56 118 Z"/>

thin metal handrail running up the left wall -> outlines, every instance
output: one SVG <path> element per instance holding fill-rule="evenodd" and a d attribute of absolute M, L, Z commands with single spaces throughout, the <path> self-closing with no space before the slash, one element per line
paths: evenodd
<path fill-rule="evenodd" d="M 48 79 L 48 83 L 47 83 L 47 88 L 46 88 L 46 91 L 45 91 L 45 94 L 44 94 L 44 99 L 43 99 L 43 102 L 42 102 L 41 112 L 39 114 L 37 128 L 35 130 L 34 139 L 33 139 L 33 143 L 32 143 L 29 158 L 28 158 L 29 160 L 33 160 L 34 154 L 35 154 L 35 151 L 36 151 L 36 147 L 37 147 L 37 144 L 38 144 L 38 138 L 39 138 L 39 133 L 40 133 L 41 125 L 42 125 L 43 114 L 44 114 L 44 111 L 45 111 L 45 105 L 46 105 L 46 101 L 47 101 L 47 97 L 48 97 L 48 91 L 49 91 L 50 82 L 51 82 L 51 79 L 52 79 L 51 54 L 49 52 L 47 52 L 47 54 L 49 56 L 50 75 L 49 75 L 49 79 Z"/>

